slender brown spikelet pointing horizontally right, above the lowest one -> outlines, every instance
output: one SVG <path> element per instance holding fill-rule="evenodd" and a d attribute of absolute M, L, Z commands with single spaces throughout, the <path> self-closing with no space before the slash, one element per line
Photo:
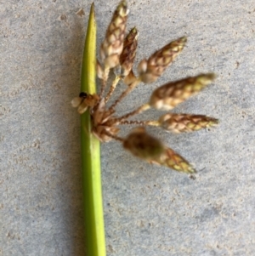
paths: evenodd
<path fill-rule="evenodd" d="M 158 122 L 161 128 L 173 133 L 193 132 L 218 124 L 218 120 L 212 117 L 173 113 L 161 116 Z"/>

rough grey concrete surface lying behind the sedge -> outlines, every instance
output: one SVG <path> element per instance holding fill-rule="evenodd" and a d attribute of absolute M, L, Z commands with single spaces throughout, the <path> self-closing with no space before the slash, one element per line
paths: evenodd
<path fill-rule="evenodd" d="M 98 42 L 117 3 L 95 1 Z M 79 93 L 89 5 L 0 1 L 0 255 L 83 255 L 80 122 L 70 101 Z M 194 134 L 149 128 L 194 162 L 195 180 L 141 162 L 117 142 L 102 145 L 108 255 L 254 255 L 254 1 L 138 0 L 129 7 L 128 28 L 140 32 L 138 60 L 178 37 L 189 41 L 118 113 L 164 82 L 214 71 L 217 80 L 175 111 L 221 122 Z"/>

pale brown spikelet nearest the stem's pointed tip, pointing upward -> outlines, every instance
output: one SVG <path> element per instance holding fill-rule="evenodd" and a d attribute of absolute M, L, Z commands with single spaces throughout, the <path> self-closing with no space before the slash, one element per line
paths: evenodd
<path fill-rule="evenodd" d="M 101 44 L 100 56 L 105 66 L 115 67 L 122 54 L 123 41 L 127 26 L 127 2 L 122 1 L 114 12 L 111 23 L 107 28 L 105 40 Z"/>

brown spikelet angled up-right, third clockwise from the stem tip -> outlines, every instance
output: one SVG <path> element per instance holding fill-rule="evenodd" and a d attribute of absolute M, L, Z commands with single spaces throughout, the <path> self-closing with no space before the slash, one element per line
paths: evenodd
<path fill-rule="evenodd" d="M 142 60 L 138 67 L 141 81 L 145 83 L 155 82 L 167 66 L 181 53 L 186 42 L 186 37 L 178 38 L 178 40 L 168 43 L 156 51 L 148 60 Z"/>

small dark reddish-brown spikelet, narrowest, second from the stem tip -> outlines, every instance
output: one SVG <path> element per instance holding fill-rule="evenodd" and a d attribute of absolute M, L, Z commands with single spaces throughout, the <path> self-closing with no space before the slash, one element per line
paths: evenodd
<path fill-rule="evenodd" d="M 136 49 L 138 45 L 139 32 L 136 27 L 133 27 L 131 31 L 127 34 L 124 40 L 122 54 L 120 56 L 121 65 L 121 76 L 127 77 L 129 72 L 132 70 L 133 61 L 136 55 Z"/>

